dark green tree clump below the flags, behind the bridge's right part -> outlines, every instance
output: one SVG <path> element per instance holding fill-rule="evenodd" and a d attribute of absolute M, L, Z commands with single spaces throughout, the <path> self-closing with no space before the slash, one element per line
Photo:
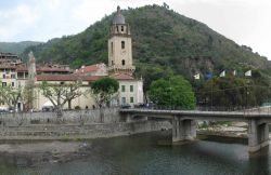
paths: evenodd
<path fill-rule="evenodd" d="M 217 77 L 208 80 L 198 93 L 203 105 L 218 107 L 253 107 L 270 97 L 268 82 L 263 79 Z"/>

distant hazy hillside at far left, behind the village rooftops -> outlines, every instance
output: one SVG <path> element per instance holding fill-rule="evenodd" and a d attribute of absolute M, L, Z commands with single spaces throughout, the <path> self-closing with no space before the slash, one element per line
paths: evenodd
<path fill-rule="evenodd" d="M 38 45 L 41 42 L 22 41 L 22 42 L 0 42 L 0 52 L 10 52 L 17 55 L 22 54 L 26 48 Z"/>

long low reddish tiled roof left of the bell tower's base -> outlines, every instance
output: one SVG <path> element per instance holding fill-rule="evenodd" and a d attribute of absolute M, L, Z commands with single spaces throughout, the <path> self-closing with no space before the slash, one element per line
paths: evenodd
<path fill-rule="evenodd" d="M 77 75 L 38 75 L 37 81 L 95 81 L 102 76 L 77 76 Z"/>

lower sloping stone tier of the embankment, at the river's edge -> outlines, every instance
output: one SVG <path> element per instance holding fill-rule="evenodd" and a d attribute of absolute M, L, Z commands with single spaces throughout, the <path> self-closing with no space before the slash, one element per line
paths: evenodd
<path fill-rule="evenodd" d="M 0 140 L 80 140 L 169 130 L 168 121 L 134 121 L 92 124 L 30 124 L 0 127 Z"/>

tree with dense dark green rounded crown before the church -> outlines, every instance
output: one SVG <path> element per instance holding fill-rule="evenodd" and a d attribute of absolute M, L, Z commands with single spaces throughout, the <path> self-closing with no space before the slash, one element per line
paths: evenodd
<path fill-rule="evenodd" d="M 104 115 L 102 108 L 108 105 L 111 99 L 116 96 L 116 92 L 118 91 L 119 84 L 118 81 L 109 78 L 104 77 L 94 81 L 91 84 L 91 94 L 100 108 L 100 120 L 101 122 L 104 121 Z"/>

